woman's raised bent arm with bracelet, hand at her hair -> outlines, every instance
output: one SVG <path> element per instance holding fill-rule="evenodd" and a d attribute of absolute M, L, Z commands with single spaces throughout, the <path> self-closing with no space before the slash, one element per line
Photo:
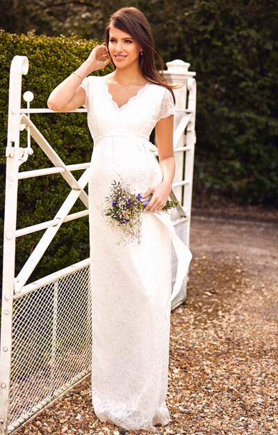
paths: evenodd
<path fill-rule="evenodd" d="M 105 58 L 105 61 L 104 61 Z M 71 111 L 82 106 L 85 102 L 85 90 L 79 86 L 81 79 L 85 79 L 91 72 L 105 68 L 111 62 L 108 49 L 104 45 L 99 45 L 92 49 L 88 59 L 67 79 L 62 81 L 52 90 L 47 100 L 49 109 L 55 111 Z M 81 77 L 81 79 L 79 78 Z"/>

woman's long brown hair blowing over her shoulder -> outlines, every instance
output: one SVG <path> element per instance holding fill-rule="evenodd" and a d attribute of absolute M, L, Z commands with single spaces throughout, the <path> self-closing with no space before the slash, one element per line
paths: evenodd
<path fill-rule="evenodd" d="M 108 24 L 106 26 L 106 47 L 109 43 L 109 32 L 111 26 L 116 27 L 129 33 L 136 42 L 142 48 L 142 56 L 139 56 L 139 67 L 143 77 L 153 84 L 164 86 L 172 93 L 173 100 L 175 102 L 173 88 L 177 86 L 171 86 L 158 74 L 156 65 L 154 63 L 154 53 L 158 56 L 161 63 L 161 72 L 163 72 L 163 60 L 161 56 L 154 49 L 154 40 L 152 37 L 152 31 L 149 26 L 149 22 L 145 15 L 137 8 L 121 8 L 117 12 L 111 15 Z M 113 63 L 114 68 L 115 64 Z"/>

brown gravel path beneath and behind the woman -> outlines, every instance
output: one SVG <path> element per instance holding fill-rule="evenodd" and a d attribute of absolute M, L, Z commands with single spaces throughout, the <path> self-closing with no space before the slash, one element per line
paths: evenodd
<path fill-rule="evenodd" d="M 157 434 L 278 434 L 278 223 L 192 221 L 188 297 L 172 313 L 167 402 Z M 18 434 L 147 434 L 99 422 L 83 381 Z"/>

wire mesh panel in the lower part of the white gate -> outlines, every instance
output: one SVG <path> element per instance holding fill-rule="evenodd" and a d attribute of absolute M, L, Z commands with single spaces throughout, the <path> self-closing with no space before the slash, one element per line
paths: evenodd
<path fill-rule="evenodd" d="M 89 266 L 14 301 L 8 430 L 91 370 Z"/>

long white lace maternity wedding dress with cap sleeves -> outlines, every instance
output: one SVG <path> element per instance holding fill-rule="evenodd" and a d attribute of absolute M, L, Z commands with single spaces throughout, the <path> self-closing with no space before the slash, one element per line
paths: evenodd
<path fill-rule="evenodd" d="M 117 244 L 99 205 L 122 176 L 136 193 L 161 182 L 149 135 L 174 113 L 169 90 L 147 84 L 118 108 L 105 77 L 87 77 L 88 125 L 94 139 L 90 165 L 89 221 L 92 280 L 92 405 L 102 422 L 125 429 L 166 425 L 169 361 L 171 251 L 167 228 L 142 213 L 140 244 Z"/>

